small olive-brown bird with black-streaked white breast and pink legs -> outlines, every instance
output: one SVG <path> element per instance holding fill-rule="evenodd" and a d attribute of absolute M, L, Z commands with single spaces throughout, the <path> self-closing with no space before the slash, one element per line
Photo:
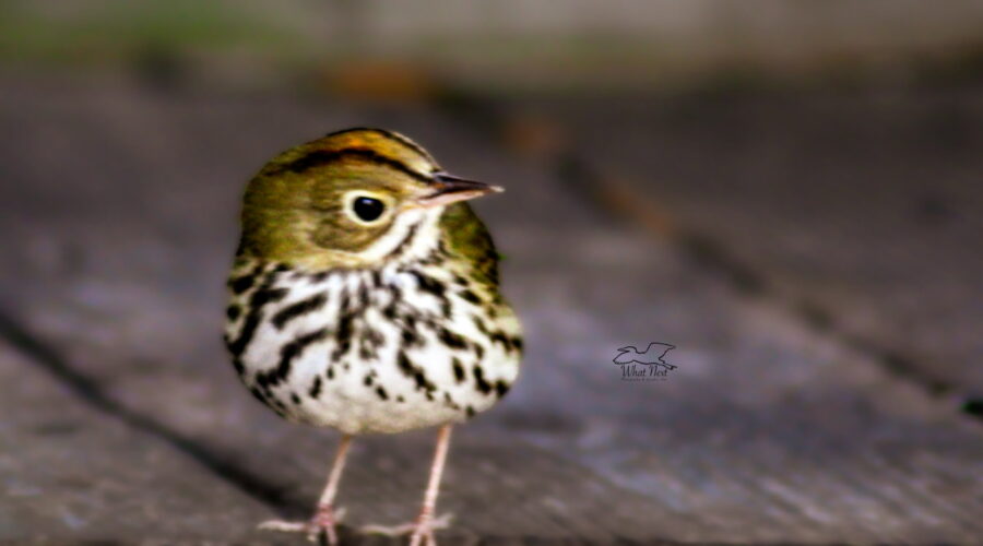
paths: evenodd
<path fill-rule="evenodd" d="M 233 367 L 281 417 L 341 432 L 310 520 L 260 529 L 337 544 L 353 439 L 437 427 L 419 515 L 362 527 L 436 544 L 449 524 L 436 501 L 451 429 L 505 396 L 522 358 L 499 254 L 467 204 L 501 191 L 375 128 L 286 150 L 246 185 L 227 281 Z"/>

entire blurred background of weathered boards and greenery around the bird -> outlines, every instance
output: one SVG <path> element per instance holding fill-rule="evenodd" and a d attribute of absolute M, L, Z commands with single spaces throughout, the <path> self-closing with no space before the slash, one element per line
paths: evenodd
<path fill-rule="evenodd" d="M 508 189 L 528 355 L 448 542 L 983 541 L 970 0 L 0 1 L 0 541 L 292 539 L 336 436 L 238 384 L 224 276 L 245 181 L 350 126 Z M 431 436 L 356 442 L 348 525 Z"/>

